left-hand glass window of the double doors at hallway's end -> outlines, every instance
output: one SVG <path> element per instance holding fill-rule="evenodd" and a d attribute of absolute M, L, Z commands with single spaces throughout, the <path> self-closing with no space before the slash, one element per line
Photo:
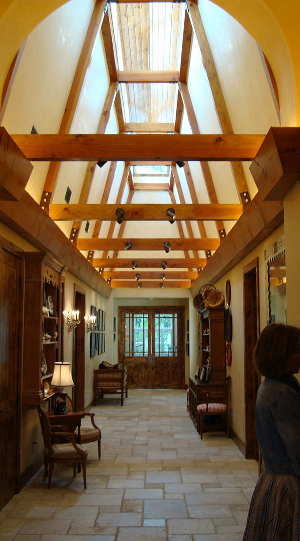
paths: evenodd
<path fill-rule="evenodd" d="M 148 314 L 125 314 L 125 357 L 148 355 Z"/>

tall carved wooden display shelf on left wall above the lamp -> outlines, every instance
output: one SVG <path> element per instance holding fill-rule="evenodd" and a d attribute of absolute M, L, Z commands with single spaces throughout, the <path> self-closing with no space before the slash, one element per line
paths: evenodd
<path fill-rule="evenodd" d="M 25 253 L 22 401 L 27 406 L 54 395 L 44 389 L 52 379 L 54 362 L 60 361 L 61 273 L 62 266 L 49 254 Z"/>

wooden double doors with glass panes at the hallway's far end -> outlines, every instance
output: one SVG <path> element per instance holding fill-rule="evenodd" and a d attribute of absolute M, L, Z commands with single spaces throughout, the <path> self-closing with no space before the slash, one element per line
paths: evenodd
<path fill-rule="evenodd" d="M 128 366 L 131 388 L 184 388 L 185 309 L 119 307 L 119 362 Z"/>

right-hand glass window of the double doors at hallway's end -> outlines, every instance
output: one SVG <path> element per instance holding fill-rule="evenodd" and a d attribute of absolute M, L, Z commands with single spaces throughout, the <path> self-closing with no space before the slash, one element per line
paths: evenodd
<path fill-rule="evenodd" d="M 178 355 L 178 314 L 155 314 L 155 357 Z"/>

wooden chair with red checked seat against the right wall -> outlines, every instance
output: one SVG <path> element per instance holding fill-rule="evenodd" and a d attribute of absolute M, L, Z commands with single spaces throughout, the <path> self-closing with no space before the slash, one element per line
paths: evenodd
<path fill-rule="evenodd" d="M 202 439 L 203 431 L 217 432 L 225 430 L 229 438 L 229 397 L 230 397 L 230 375 L 226 379 L 226 390 L 224 392 L 208 391 L 203 404 L 198 404 L 197 411 L 197 432 Z M 222 422 L 208 424 L 204 422 L 203 417 L 217 416 L 222 418 Z M 204 426 L 203 426 L 204 425 Z"/>

